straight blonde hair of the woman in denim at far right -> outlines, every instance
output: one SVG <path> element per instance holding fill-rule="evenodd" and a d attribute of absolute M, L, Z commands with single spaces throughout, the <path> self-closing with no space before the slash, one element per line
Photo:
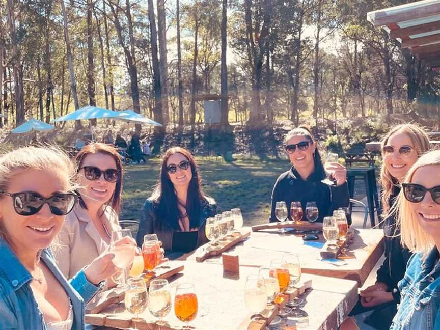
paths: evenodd
<path fill-rule="evenodd" d="M 422 155 L 416 163 L 409 169 L 403 180 L 410 183 L 414 173 L 425 166 L 440 166 L 440 151 L 434 150 Z M 440 168 L 438 169 L 440 171 Z M 397 226 L 400 226 L 401 242 L 407 246 L 411 252 L 429 252 L 435 245 L 431 235 L 426 233 L 419 224 L 418 215 L 411 210 L 411 202 L 405 199 L 403 189 L 397 198 L 391 212 L 397 214 Z"/>

